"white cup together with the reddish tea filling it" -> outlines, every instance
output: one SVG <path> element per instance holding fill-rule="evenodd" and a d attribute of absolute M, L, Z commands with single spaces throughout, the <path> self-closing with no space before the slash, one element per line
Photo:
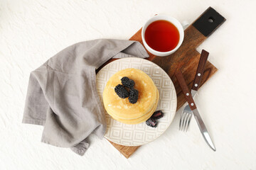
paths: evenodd
<path fill-rule="evenodd" d="M 146 50 L 156 56 L 167 56 L 178 50 L 184 38 L 186 21 L 181 23 L 171 16 L 154 16 L 142 27 L 142 42 Z"/>

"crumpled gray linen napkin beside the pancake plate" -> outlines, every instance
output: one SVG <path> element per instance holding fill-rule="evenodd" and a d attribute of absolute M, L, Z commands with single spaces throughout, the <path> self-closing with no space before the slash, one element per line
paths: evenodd
<path fill-rule="evenodd" d="M 31 72 L 22 122 L 44 126 L 41 142 L 85 154 L 87 137 L 102 138 L 106 130 L 95 69 L 112 57 L 134 56 L 149 57 L 129 40 L 90 40 L 58 52 Z"/>

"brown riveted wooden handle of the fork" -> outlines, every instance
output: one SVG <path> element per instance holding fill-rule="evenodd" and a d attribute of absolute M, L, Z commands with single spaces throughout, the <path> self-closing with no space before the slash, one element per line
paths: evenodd
<path fill-rule="evenodd" d="M 198 62 L 198 68 L 196 69 L 195 79 L 193 81 L 192 90 L 198 91 L 199 85 L 203 77 L 203 71 L 206 66 L 209 52 L 202 50 L 200 60 Z"/>

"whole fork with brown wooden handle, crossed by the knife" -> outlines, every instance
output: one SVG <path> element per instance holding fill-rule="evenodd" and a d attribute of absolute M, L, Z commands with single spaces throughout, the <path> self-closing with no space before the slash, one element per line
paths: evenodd
<path fill-rule="evenodd" d="M 209 55 L 209 52 L 207 52 L 206 50 L 202 50 L 200 60 L 198 62 L 198 68 L 196 69 L 195 79 L 193 81 L 193 86 L 191 89 L 191 96 L 193 96 L 193 97 L 195 96 L 196 92 L 198 91 L 199 84 L 202 80 L 203 71 L 206 66 L 208 55 Z M 188 95 L 188 94 L 186 94 L 186 95 Z M 179 122 L 179 130 L 184 131 L 184 132 L 188 131 L 188 126 L 191 122 L 192 114 L 193 113 L 191 111 L 191 108 L 189 108 L 189 106 L 187 105 L 181 113 L 181 118 L 180 118 L 180 122 Z"/>

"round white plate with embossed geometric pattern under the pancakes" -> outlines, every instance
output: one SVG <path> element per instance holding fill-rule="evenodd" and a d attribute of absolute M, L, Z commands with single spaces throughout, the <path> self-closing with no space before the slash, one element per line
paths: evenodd
<path fill-rule="evenodd" d="M 159 90 L 159 103 L 156 111 L 163 111 L 164 117 L 158 120 L 159 123 L 156 128 L 151 128 L 146 123 L 136 125 L 120 123 L 112 119 L 105 111 L 107 118 L 107 132 L 105 137 L 107 140 L 119 145 L 139 146 L 156 140 L 171 125 L 177 107 L 176 91 L 170 77 L 161 67 L 153 62 L 149 62 L 149 60 L 129 57 L 115 60 L 107 64 L 97 73 L 97 91 L 101 101 L 103 90 L 110 77 L 119 70 L 127 68 L 141 69 L 151 77 Z"/>

